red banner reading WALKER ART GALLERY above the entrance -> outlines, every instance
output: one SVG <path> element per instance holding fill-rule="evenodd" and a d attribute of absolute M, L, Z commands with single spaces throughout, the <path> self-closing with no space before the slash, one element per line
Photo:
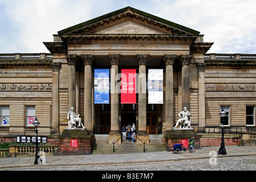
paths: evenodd
<path fill-rule="evenodd" d="M 121 104 L 136 104 L 136 69 L 121 69 Z"/>

